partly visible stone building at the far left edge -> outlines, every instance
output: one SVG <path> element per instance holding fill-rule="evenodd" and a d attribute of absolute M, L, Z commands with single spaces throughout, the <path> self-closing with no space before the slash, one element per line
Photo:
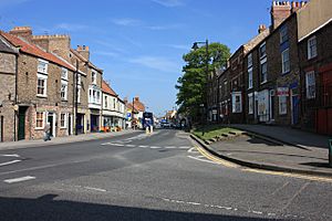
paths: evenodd
<path fill-rule="evenodd" d="M 17 59 L 18 50 L 0 36 L 0 141 L 17 140 Z"/>

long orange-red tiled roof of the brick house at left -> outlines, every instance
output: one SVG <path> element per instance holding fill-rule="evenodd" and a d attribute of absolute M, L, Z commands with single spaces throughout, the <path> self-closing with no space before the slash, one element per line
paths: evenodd
<path fill-rule="evenodd" d="M 59 59 L 56 55 L 52 53 L 48 53 L 37 46 L 35 44 L 29 43 L 24 41 L 21 38 L 14 36 L 12 34 L 6 33 L 3 31 L 0 31 L 0 35 L 3 36 L 9 43 L 11 43 L 13 46 L 19 48 L 20 52 L 24 52 L 27 54 L 31 54 L 33 56 L 46 60 L 49 62 L 59 64 L 60 66 L 66 67 L 69 70 L 75 71 L 75 69 L 64 62 L 63 60 Z"/>

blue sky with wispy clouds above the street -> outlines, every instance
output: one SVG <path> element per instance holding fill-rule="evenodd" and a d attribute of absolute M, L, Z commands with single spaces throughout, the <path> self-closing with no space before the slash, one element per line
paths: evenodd
<path fill-rule="evenodd" d="M 234 52 L 270 24 L 271 0 L 0 0 L 0 29 L 70 34 L 122 96 L 139 96 L 155 114 L 175 106 L 174 85 L 193 42 Z"/>

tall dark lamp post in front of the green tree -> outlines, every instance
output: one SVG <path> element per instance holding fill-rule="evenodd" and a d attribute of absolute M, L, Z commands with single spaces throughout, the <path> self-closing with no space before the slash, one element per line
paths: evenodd
<path fill-rule="evenodd" d="M 206 61 L 205 61 L 205 64 L 206 64 L 206 90 L 205 90 L 205 103 L 206 103 L 206 105 L 201 105 L 203 106 L 203 113 L 201 113 L 201 115 L 205 115 L 205 119 L 203 120 L 203 130 L 201 130 L 201 133 L 203 133 L 203 136 L 204 136 L 204 134 L 205 134 L 205 126 L 206 126 L 206 124 L 207 124 L 207 105 L 208 105 L 208 81 L 209 81 L 209 60 L 210 60 L 210 57 L 209 57 L 209 41 L 208 40 L 206 40 L 205 42 L 194 42 L 194 44 L 193 44 L 193 50 L 194 51 L 196 51 L 196 50 L 198 50 L 199 49 L 199 46 L 198 46 L 198 44 L 205 44 L 205 49 L 206 49 Z M 204 109 L 206 109 L 206 112 L 204 113 Z M 203 118 L 203 117 L 201 117 Z"/>

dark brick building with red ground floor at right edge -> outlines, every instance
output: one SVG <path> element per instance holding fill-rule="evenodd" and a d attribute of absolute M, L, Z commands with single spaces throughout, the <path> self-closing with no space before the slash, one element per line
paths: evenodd
<path fill-rule="evenodd" d="M 301 126 L 332 135 L 332 1 L 311 0 L 298 11 Z"/>

